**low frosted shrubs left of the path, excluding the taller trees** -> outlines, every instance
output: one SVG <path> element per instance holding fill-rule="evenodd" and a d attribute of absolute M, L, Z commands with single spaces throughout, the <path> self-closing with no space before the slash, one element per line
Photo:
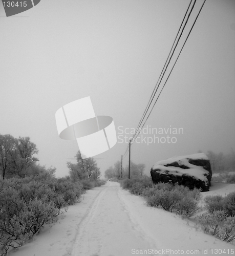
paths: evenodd
<path fill-rule="evenodd" d="M 82 193 L 79 182 L 45 178 L 0 181 L 0 254 L 22 246 L 46 223 L 56 221 L 60 209 L 75 203 Z"/>

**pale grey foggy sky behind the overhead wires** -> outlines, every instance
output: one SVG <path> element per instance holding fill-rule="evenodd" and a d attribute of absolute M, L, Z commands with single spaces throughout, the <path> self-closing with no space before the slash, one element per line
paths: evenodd
<path fill-rule="evenodd" d="M 62 177 L 68 175 L 66 158 L 78 150 L 76 141 L 58 137 L 55 112 L 62 105 L 90 96 L 96 115 L 113 117 L 117 133 L 118 126 L 136 128 L 189 2 L 41 0 L 12 17 L 1 2 L 0 134 L 29 136 L 39 163 L 55 166 Z M 234 14 L 233 0 L 206 1 L 146 122 L 182 127 L 184 134 L 175 144 L 132 146 L 132 160 L 145 163 L 147 174 L 155 162 L 175 155 L 234 148 Z M 104 158 L 97 160 L 102 173 L 125 148 L 117 143 L 96 156 Z"/>

